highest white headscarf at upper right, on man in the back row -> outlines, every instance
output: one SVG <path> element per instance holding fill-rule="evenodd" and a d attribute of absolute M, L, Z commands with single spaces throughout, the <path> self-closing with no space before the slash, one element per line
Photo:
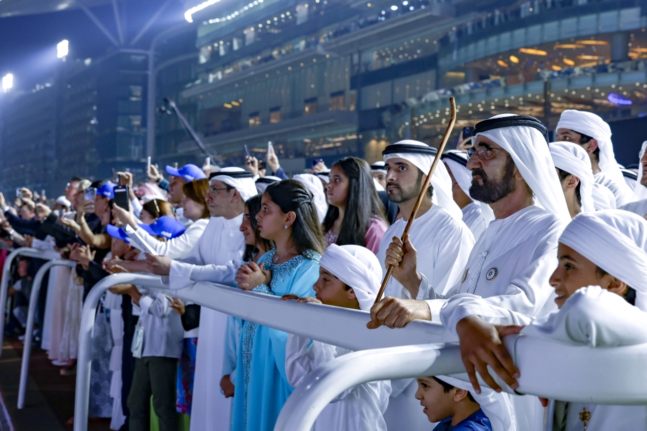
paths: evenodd
<path fill-rule="evenodd" d="M 594 138 L 600 148 L 600 170 L 618 183 L 619 187 L 629 187 L 624 182 L 622 171 L 615 161 L 613 143 L 611 143 L 611 127 L 600 116 L 592 112 L 566 109 L 560 116 L 555 129 L 569 129 Z"/>

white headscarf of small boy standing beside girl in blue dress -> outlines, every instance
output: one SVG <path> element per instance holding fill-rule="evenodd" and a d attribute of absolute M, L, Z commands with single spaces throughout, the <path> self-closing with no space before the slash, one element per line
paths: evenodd
<path fill-rule="evenodd" d="M 352 287 L 360 309 L 371 311 L 382 283 L 382 267 L 371 250 L 360 245 L 331 244 L 319 266 Z"/>

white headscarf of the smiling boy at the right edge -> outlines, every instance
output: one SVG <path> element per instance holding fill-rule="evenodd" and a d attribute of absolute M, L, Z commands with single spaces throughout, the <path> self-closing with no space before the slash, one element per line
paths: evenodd
<path fill-rule="evenodd" d="M 635 305 L 647 311 L 647 220 L 624 210 L 582 212 L 559 242 L 633 287 Z"/>

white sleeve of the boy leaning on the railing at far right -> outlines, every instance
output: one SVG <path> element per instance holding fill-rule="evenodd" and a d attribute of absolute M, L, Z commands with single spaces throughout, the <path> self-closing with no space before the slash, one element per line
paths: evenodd
<path fill-rule="evenodd" d="M 537 318 L 524 335 L 591 348 L 647 342 L 647 313 L 600 286 L 583 287 L 559 311 Z"/>

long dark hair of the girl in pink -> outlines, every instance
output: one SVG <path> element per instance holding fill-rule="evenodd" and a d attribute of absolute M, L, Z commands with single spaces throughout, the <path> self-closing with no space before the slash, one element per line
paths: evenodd
<path fill-rule="evenodd" d="M 366 231 L 371 219 L 377 218 L 387 223 L 384 216 L 384 205 L 377 195 L 373 185 L 373 175 L 369 164 L 357 157 L 345 157 L 334 162 L 334 166 L 344 171 L 349 179 L 346 209 L 342 228 L 337 238 L 337 245 L 366 245 Z M 339 208 L 328 206 L 328 212 L 323 219 L 323 231 L 333 228 L 334 221 L 339 217 Z M 387 223 L 388 224 L 388 223 Z"/>

